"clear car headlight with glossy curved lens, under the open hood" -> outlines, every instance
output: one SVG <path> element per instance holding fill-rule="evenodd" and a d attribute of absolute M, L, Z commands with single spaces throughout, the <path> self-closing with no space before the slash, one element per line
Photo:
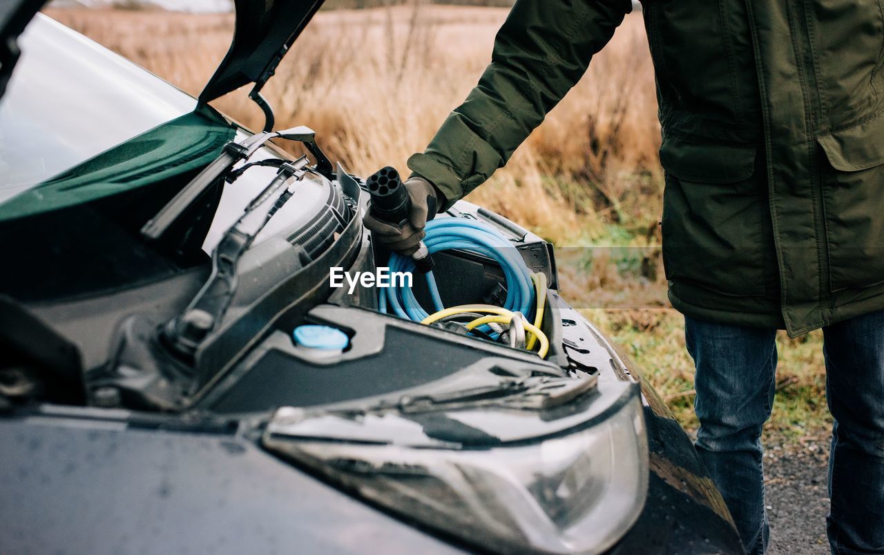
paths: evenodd
<path fill-rule="evenodd" d="M 418 415 L 287 409 L 264 445 L 404 519 L 492 551 L 598 553 L 632 527 L 648 487 L 637 387 L 610 388 L 625 389 L 601 414 L 571 411 L 560 419 L 487 408 Z M 552 433 L 507 441 L 494 431 L 531 426 Z"/>

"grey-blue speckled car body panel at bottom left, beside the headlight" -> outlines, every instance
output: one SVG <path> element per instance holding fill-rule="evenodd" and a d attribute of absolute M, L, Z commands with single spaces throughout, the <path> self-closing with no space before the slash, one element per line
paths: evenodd
<path fill-rule="evenodd" d="M 2 419 L 0 445 L 4 552 L 461 552 L 232 433 L 68 414 Z"/>

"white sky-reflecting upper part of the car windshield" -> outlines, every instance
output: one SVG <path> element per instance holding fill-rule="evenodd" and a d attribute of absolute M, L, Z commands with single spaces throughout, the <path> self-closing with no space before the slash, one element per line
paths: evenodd
<path fill-rule="evenodd" d="M 194 98 L 37 15 L 0 100 L 0 203 L 156 125 Z"/>

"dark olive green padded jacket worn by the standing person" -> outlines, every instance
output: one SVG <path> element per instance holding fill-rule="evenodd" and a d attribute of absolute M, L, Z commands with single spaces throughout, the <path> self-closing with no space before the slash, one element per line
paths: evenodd
<path fill-rule="evenodd" d="M 644 0 L 669 299 L 795 337 L 884 308 L 884 0 Z M 518 0 L 409 167 L 455 201 L 581 78 L 629 0 Z"/>

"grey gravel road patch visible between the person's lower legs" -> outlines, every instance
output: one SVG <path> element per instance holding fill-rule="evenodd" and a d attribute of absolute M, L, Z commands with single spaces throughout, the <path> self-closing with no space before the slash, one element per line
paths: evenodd
<path fill-rule="evenodd" d="M 771 555 L 828 553 L 827 442 L 765 451 Z"/>

